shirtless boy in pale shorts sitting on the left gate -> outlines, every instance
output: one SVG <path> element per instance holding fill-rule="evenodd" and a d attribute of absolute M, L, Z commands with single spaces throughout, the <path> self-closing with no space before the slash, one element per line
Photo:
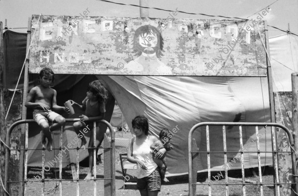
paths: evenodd
<path fill-rule="evenodd" d="M 47 138 L 47 150 L 49 151 L 51 151 L 53 148 L 53 139 L 50 130 L 55 130 L 58 127 L 64 127 L 65 125 L 65 118 L 52 111 L 51 108 L 56 111 L 64 110 L 69 112 L 68 107 L 57 105 L 57 92 L 51 88 L 51 85 L 54 84 L 54 80 L 55 76 L 52 69 L 44 67 L 39 73 L 40 84 L 30 90 L 25 103 L 26 107 L 34 109 L 33 118 L 42 128 L 41 144 L 43 147 L 45 147 Z M 48 120 L 53 122 L 51 127 L 49 126 Z"/>

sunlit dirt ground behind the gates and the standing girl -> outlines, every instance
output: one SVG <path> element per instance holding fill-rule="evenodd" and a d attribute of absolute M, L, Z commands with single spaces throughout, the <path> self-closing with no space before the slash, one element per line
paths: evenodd
<path fill-rule="evenodd" d="M 116 137 L 118 138 L 130 138 L 128 133 L 123 134 L 116 132 Z M 116 147 L 116 196 L 140 196 L 139 191 L 136 188 L 125 188 L 123 189 L 123 175 L 121 170 L 120 152 L 127 152 L 127 148 Z M 87 167 L 80 167 L 80 175 L 79 179 L 84 179 L 87 174 Z M 96 178 L 103 178 L 103 163 L 99 163 L 96 166 Z M 130 179 L 133 179 L 135 176 L 134 170 L 127 171 L 130 174 Z M 32 182 L 28 183 L 27 186 L 27 195 L 28 196 L 40 196 L 41 195 L 41 182 L 38 181 L 38 177 L 41 174 L 41 168 L 30 168 L 28 172 L 28 180 Z M 212 173 L 213 176 L 219 176 L 217 173 Z M 233 171 L 228 173 L 228 176 L 233 178 L 241 178 L 241 171 Z M 64 168 L 62 173 L 63 179 L 72 180 L 72 170 L 71 167 Z M 245 171 L 245 177 L 248 180 L 258 181 L 257 177 L 253 177 L 253 175 L 249 172 L 249 170 Z M 55 180 L 59 178 L 59 169 L 55 172 L 50 170 L 49 172 L 45 172 L 45 180 Z M 188 196 L 188 176 L 177 176 L 177 177 L 169 177 L 170 183 L 163 184 L 161 186 L 161 191 L 158 193 L 158 196 Z M 213 179 L 213 178 L 212 178 Z M 201 182 L 204 184 L 208 183 L 207 173 L 201 173 L 198 175 L 197 182 Z M 270 172 L 265 172 L 263 175 L 263 182 L 273 182 L 273 177 Z M 212 184 L 224 184 L 224 179 L 214 180 Z M 239 184 L 238 181 L 230 181 L 230 183 Z M 93 187 L 94 183 L 79 181 L 79 195 L 80 196 L 92 196 L 93 195 Z M 225 196 L 225 186 L 224 185 L 212 185 L 211 191 L 213 196 Z M 104 185 L 102 181 L 96 182 L 96 193 L 97 196 L 104 195 Z M 242 194 L 242 185 L 229 185 L 229 196 L 240 196 Z M 273 188 L 264 187 L 264 196 L 272 196 L 274 194 Z M 197 196 L 208 196 L 208 185 L 199 185 L 197 186 Z M 62 195 L 63 196 L 76 196 L 76 182 L 73 181 L 63 181 L 62 182 Z M 260 195 L 260 188 L 256 185 L 246 185 L 246 196 L 255 196 Z M 59 182 L 45 182 L 45 196 L 59 196 Z"/>

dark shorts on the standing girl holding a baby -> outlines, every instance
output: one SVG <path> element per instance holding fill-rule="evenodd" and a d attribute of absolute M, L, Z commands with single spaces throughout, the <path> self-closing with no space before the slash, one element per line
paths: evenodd
<path fill-rule="evenodd" d="M 148 191 L 160 191 L 161 179 L 156 168 L 149 176 L 137 179 L 138 190 L 148 190 Z"/>

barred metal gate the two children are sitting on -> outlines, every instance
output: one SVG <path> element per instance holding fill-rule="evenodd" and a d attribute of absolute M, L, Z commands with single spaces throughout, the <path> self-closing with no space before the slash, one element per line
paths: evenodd
<path fill-rule="evenodd" d="M 93 121 L 93 144 L 94 146 L 91 147 L 93 149 L 93 176 L 94 179 L 92 179 L 91 181 L 93 181 L 93 195 L 96 196 L 96 181 L 97 180 L 108 180 L 110 181 L 110 190 L 109 190 L 109 194 L 111 196 L 115 196 L 116 195 L 116 191 L 115 191 L 115 132 L 110 131 L 111 133 L 111 145 L 110 147 L 100 147 L 100 148 L 110 148 L 110 157 L 111 157 L 111 171 L 110 171 L 110 178 L 100 178 L 97 179 L 96 178 L 96 120 L 100 123 L 104 123 L 106 124 L 110 130 L 112 129 L 112 126 L 110 123 L 108 123 L 105 120 L 99 120 L 99 117 L 89 117 L 89 120 L 86 121 Z M 76 122 L 76 121 L 80 121 L 79 118 L 70 118 L 70 119 L 66 119 L 66 122 Z M 10 135 L 11 132 L 13 130 L 13 128 L 19 124 L 24 124 L 24 123 L 35 123 L 35 121 L 33 119 L 27 119 L 27 120 L 19 120 L 16 121 L 15 123 L 13 123 L 7 133 L 6 133 L 6 145 L 9 146 L 10 144 Z M 76 149 L 76 176 L 77 179 L 73 179 L 73 180 L 66 180 L 66 179 L 62 179 L 62 158 L 59 159 L 59 179 L 55 179 L 55 180 L 45 180 L 44 178 L 44 171 L 45 171 L 45 148 L 43 147 L 42 149 L 28 149 L 28 129 L 26 129 L 25 132 L 25 148 L 24 149 L 9 149 L 8 147 L 5 147 L 5 174 L 4 174 L 4 182 L 5 182 L 5 189 L 8 191 L 8 183 L 24 183 L 24 196 L 26 196 L 26 189 L 27 189 L 27 183 L 29 181 L 27 181 L 27 162 L 28 162 L 28 150 L 42 150 L 42 179 L 39 181 L 42 183 L 42 189 L 41 189 L 41 195 L 44 196 L 44 188 L 45 188 L 45 182 L 49 182 L 49 181 L 59 181 L 59 192 L 60 192 L 60 196 L 62 196 L 62 181 L 76 181 L 76 196 L 79 196 L 79 181 L 83 180 L 83 179 L 78 179 L 79 177 L 79 148 L 62 148 L 62 144 L 63 144 L 63 127 L 61 127 L 60 129 L 60 142 L 59 142 L 59 148 L 53 148 L 53 149 L 59 149 L 60 153 L 62 154 L 62 150 L 66 150 L 66 149 Z M 86 148 L 88 149 L 88 148 Z M 10 181 L 8 182 L 8 164 L 9 164 L 9 157 L 10 157 L 10 151 L 11 150 L 25 150 L 25 154 L 24 154 L 24 180 L 23 181 Z M 37 181 L 38 182 L 38 181 Z M 105 187 L 106 188 L 106 187 Z"/>

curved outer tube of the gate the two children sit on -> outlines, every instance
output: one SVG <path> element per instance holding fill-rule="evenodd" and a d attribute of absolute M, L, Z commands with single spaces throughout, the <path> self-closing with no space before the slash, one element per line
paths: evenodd
<path fill-rule="evenodd" d="M 65 119 L 66 122 L 76 122 L 76 121 L 80 121 L 79 118 L 67 118 Z M 95 120 L 99 120 L 99 117 L 90 117 L 88 120 L 86 121 L 95 121 Z M 106 120 L 99 120 L 99 122 L 106 124 L 110 130 L 112 129 L 112 126 L 109 122 L 107 122 Z M 10 143 L 10 135 L 11 132 L 13 130 L 13 128 L 19 124 L 23 124 L 23 123 L 35 123 L 35 121 L 33 119 L 24 119 L 24 120 L 18 120 L 16 122 L 14 122 L 8 129 L 7 133 L 6 133 L 6 144 Z M 111 196 L 115 196 L 116 195 L 116 190 L 115 190 L 115 133 L 112 131 L 111 133 L 111 157 L 112 157 L 112 163 L 111 163 Z M 25 152 L 28 149 L 24 149 Z M 7 189 L 7 181 L 8 181 L 8 162 L 9 162 L 9 157 L 10 157 L 10 149 L 8 147 L 5 147 L 5 174 L 4 174 L 4 181 L 5 181 L 5 189 Z M 96 158 L 96 157 L 94 157 Z M 26 175 L 26 174 L 25 174 Z M 26 179 L 27 180 L 27 179 Z M 28 181 L 23 181 L 25 184 Z M 103 180 L 103 179 L 94 179 L 94 180 Z M 57 180 L 55 180 L 57 181 Z M 64 181 L 60 178 L 60 182 Z"/>

